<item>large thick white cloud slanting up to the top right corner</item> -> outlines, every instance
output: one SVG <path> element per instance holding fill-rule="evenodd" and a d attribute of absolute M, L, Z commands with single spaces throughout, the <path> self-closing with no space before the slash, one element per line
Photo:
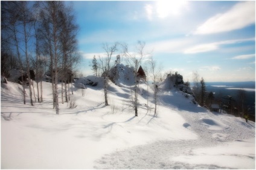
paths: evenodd
<path fill-rule="evenodd" d="M 226 13 L 217 14 L 206 20 L 196 29 L 194 34 L 214 34 L 232 31 L 244 28 L 252 23 L 255 23 L 255 2 L 239 2 Z"/>

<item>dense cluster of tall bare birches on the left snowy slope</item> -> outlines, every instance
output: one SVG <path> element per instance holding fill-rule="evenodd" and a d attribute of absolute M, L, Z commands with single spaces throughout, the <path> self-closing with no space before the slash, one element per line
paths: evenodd
<path fill-rule="evenodd" d="M 28 79 L 30 103 L 34 105 L 31 69 L 36 74 L 37 102 L 43 102 L 42 79 L 46 71 L 51 77 L 56 114 L 58 81 L 62 81 L 62 103 L 68 102 L 67 84 L 80 60 L 77 33 L 72 6 L 64 1 L 1 1 L 1 75 L 8 77 L 9 70 L 19 68 L 24 104 Z"/>

